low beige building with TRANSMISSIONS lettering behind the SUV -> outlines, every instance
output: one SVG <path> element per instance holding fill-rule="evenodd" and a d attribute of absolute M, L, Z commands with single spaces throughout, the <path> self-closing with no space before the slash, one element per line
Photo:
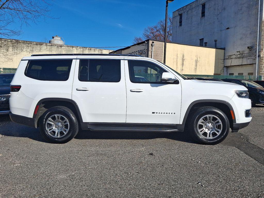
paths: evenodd
<path fill-rule="evenodd" d="M 163 62 L 163 51 L 164 42 L 146 40 L 110 54 L 136 54 Z M 224 49 L 168 42 L 166 65 L 182 74 L 223 74 Z"/>

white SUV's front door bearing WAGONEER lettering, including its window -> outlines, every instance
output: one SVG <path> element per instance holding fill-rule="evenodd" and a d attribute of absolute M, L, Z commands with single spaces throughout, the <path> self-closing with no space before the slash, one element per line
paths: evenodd
<path fill-rule="evenodd" d="M 125 60 L 127 123 L 180 123 L 181 84 L 161 82 L 163 72 L 152 62 Z"/>

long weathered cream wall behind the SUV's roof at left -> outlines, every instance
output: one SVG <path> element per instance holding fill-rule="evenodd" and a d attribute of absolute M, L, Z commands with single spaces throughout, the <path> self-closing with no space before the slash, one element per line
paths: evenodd
<path fill-rule="evenodd" d="M 0 68 L 16 68 L 24 56 L 32 54 L 108 54 L 112 50 L 0 39 Z"/>

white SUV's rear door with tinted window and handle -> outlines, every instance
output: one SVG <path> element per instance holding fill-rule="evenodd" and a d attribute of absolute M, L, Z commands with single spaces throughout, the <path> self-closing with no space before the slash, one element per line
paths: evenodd
<path fill-rule="evenodd" d="M 126 121 L 124 75 L 124 60 L 76 61 L 72 100 L 78 104 L 83 122 Z"/>

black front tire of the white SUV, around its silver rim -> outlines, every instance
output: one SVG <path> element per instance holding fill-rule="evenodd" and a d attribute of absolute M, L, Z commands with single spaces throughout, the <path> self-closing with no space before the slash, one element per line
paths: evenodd
<path fill-rule="evenodd" d="M 214 116 L 218 117 L 222 122 L 221 133 L 218 136 L 216 136 L 217 135 L 216 133 L 213 133 L 213 134 L 215 134 L 215 138 L 213 136 L 212 139 L 207 139 L 206 137 L 203 136 L 204 134 L 201 135 L 198 131 L 198 122 L 200 121 L 200 119 L 202 117 L 204 117 L 206 115 L 214 115 Z M 227 116 L 225 115 L 225 113 L 223 111 L 221 111 L 220 109 L 217 109 L 215 107 L 207 106 L 207 107 L 199 108 L 194 113 L 194 115 L 190 119 L 189 131 L 191 133 L 191 136 L 198 143 L 201 143 L 201 144 L 218 144 L 218 143 L 222 142 L 227 137 L 228 132 L 229 132 L 229 128 L 230 128 L 229 120 L 228 120 Z M 207 132 L 205 135 L 207 135 Z"/>

